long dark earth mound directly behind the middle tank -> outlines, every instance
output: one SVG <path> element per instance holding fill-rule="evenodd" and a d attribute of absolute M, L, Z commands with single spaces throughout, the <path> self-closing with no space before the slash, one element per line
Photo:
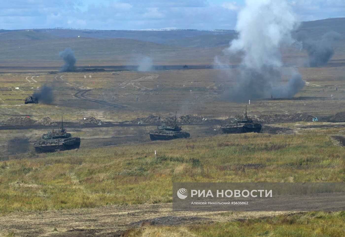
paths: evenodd
<path fill-rule="evenodd" d="M 159 116 L 159 115 L 150 115 L 146 118 L 137 118 L 132 121 L 133 123 L 138 124 L 172 124 L 175 121 L 175 116 Z M 188 123 L 203 123 L 206 122 L 207 118 L 204 118 L 200 115 L 182 115 L 176 118 L 177 124 L 188 124 Z"/>

